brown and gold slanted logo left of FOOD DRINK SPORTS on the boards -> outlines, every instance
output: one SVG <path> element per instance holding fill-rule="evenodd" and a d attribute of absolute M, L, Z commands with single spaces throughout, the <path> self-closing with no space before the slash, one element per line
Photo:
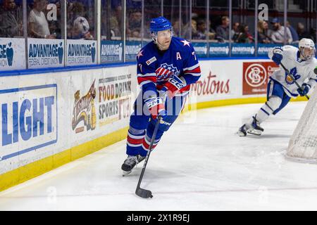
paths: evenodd
<path fill-rule="evenodd" d="M 92 86 L 90 86 L 89 91 L 85 96 L 80 98 L 80 90 L 77 90 L 74 95 L 75 102 L 73 108 L 72 128 L 76 133 L 84 131 L 85 127 L 87 127 L 87 131 L 89 129 L 93 130 L 96 128 L 97 118 L 96 108 L 94 106 L 96 88 L 94 87 L 94 82 L 92 83 Z"/>

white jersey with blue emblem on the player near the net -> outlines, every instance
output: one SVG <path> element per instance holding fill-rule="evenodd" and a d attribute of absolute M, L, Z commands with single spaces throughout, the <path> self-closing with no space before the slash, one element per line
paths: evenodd
<path fill-rule="evenodd" d="M 302 86 L 304 82 L 309 84 L 311 88 L 315 86 L 317 82 L 317 75 L 313 72 L 313 69 L 316 68 L 317 60 L 312 58 L 311 60 L 301 60 L 299 58 L 299 49 L 294 46 L 285 45 L 282 47 L 275 47 L 274 49 L 282 50 L 282 64 L 285 68 L 292 74 L 297 83 Z M 272 59 L 273 50 L 269 51 L 268 57 Z M 285 93 L 290 97 L 298 96 L 297 89 L 298 87 L 294 84 L 294 81 L 287 76 L 285 70 L 280 66 L 280 70 L 276 70 L 271 75 L 270 79 L 273 81 L 282 84 Z"/>

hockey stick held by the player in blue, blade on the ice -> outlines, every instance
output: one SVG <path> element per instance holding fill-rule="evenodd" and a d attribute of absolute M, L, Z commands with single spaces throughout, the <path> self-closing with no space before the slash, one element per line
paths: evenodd
<path fill-rule="evenodd" d="M 157 122 L 155 124 L 153 136 L 151 138 L 151 142 L 150 142 L 150 145 L 149 145 L 149 150 L 147 151 L 147 156 L 145 157 L 145 160 L 144 160 L 144 165 L 143 165 L 143 168 L 142 168 L 142 172 L 141 172 L 141 175 L 139 176 L 139 183 L 137 183 L 137 189 L 135 190 L 135 194 L 138 195 L 141 198 L 153 198 L 153 195 L 152 195 L 151 191 L 145 190 L 143 188 L 140 188 L 140 185 L 141 185 L 141 181 L 143 179 L 145 168 L 147 167 L 147 161 L 149 160 L 149 155 L 151 154 L 152 146 L 153 146 L 153 143 L 155 141 L 155 137 L 156 137 L 157 131 L 159 129 L 160 122 L 161 122 L 161 115 L 159 115 L 159 117 L 157 119 Z"/>

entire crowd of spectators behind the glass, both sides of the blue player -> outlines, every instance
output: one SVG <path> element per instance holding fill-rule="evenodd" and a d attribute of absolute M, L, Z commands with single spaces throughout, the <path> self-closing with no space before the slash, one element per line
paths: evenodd
<path fill-rule="evenodd" d="M 23 37 L 23 9 L 15 3 L 17 0 L 2 0 L 0 6 L 0 37 Z M 111 11 L 101 13 L 101 39 L 122 39 L 123 38 L 123 7 L 120 1 L 111 1 Z M 63 27 L 60 1 L 54 1 L 56 17 L 49 18 L 49 0 L 28 0 L 27 1 L 27 37 L 42 39 L 63 38 Z M 127 0 L 125 18 L 125 34 L 127 38 L 142 37 L 142 11 L 139 1 Z M 82 1 L 67 1 L 67 38 L 68 39 L 97 39 L 94 25 L 97 18 L 94 18 L 94 7 L 87 6 Z M 151 17 L 152 15 L 144 15 Z M 254 43 L 255 33 L 250 32 L 247 24 L 232 23 L 232 30 L 229 30 L 231 21 L 228 16 L 223 16 L 220 24 L 207 27 L 206 20 L 199 18 L 193 13 L 192 20 L 180 24 L 180 20 L 172 20 L 175 36 L 185 39 L 205 40 L 214 42 L 228 42 L 229 37 L 235 43 Z M 144 21 L 144 37 L 149 37 L 148 23 Z M 294 44 L 304 37 L 313 39 L 316 42 L 316 29 L 306 30 L 303 23 L 297 23 L 292 27 L 287 21 L 286 26 L 282 21 L 273 18 L 269 21 L 260 20 L 257 24 L 257 41 L 262 44 Z M 285 36 L 286 34 L 286 36 Z"/>

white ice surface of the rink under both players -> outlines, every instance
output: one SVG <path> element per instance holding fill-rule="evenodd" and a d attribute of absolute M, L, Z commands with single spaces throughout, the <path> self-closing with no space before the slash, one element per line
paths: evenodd
<path fill-rule="evenodd" d="M 285 160 L 306 102 L 264 122 L 262 136 L 235 136 L 261 104 L 180 117 L 142 166 L 122 176 L 125 141 L 0 193 L 0 210 L 317 210 L 317 165 Z M 191 115 L 191 116 L 189 116 Z"/>

